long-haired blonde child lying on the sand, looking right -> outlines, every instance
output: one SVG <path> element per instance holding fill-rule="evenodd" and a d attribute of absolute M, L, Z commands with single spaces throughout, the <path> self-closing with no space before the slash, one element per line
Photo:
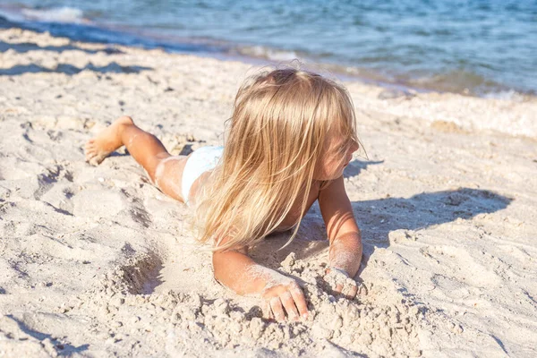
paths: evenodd
<path fill-rule="evenodd" d="M 248 248 L 294 227 L 319 200 L 327 227 L 327 282 L 353 298 L 362 240 L 345 193 L 343 170 L 358 147 L 354 106 L 341 85 L 296 69 L 262 72 L 245 81 L 234 101 L 226 147 L 171 156 L 158 139 L 124 116 L 86 144 L 98 165 L 126 146 L 152 183 L 195 205 L 202 243 L 213 244 L 217 281 L 237 294 L 260 294 L 276 320 L 306 318 L 297 282 L 256 264 Z"/>

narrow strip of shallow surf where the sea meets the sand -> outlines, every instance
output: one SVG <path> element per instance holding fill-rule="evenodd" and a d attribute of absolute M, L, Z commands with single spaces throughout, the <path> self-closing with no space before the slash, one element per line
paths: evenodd
<path fill-rule="evenodd" d="M 2 10 L 2 8 L 0 8 Z M 288 62 L 294 58 L 302 58 L 302 60 L 312 68 L 318 69 L 321 72 L 328 72 L 337 75 L 341 81 L 361 81 L 364 84 L 384 87 L 387 90 L 396 90 L 414 93 L 454 93 L 461 96 L 473 98 L 495 98 L 507 99 L 516 101 L 533 101 L 537 100 L 537 94 L 534 91 L 520 91 L 510 88 L 501 88 L 493 92 L 472 93 L 471 90 L 447 90 L 442 83 L 438 86 L 417 86 L 410 81 L 415 81 L 409 77 L 408 81 L 390 81 L 381 72 L 373 72 L 371 69 L 358 68 L 352 65 L 337 64 L 334 62 L 322 62 L 316 60 L 311 55 L 300 54 L 294 50 L 283 50 L 276 47 L 266 47 L 254 44 L 241 44 L 226 40 L 218 40 L 213 38 L 182 38 L 171 34 L 160 35 L 156 34 L 155 30 L 141 30 L 139 28 L 130 27 L 128 25 L 119 25 L 107 22 L 93 22 L 84 18 L 72 22 L 47 22 L 47 21 L 29 21 L 24 19 L 20 13 L 10 12 L 9 8 L 4 8 L 0 12 L 0 18 L 4 14 L 4 19 L 12 22 L 15 27 L 20 27 L 26 30 L 35 30 L 38 32 L 50 32 L 53 36 L 67 37 L 75 41 L 100 43 L 107 45 L 119 46 L 135 46 L 141 49 L 162 48 L 166 52 L 175 54 L 190 54 L 209 56 L 218 59 L 231 61 L 241 61 L 249 64 L 278 64 L 280 62 Z M 62 26 L 67 30 L 62 30 Z M 81 38 L 79 33 L 83 30 L 76 30 L 77 27 L 87 28 L 88 32 L 97 32 L 93 35 L 94 38 Z M 72 28 L 74 30 L 69 30 Z M 71 32 L 76 36 L 69 36 Z M 97 39 L 97 38 L 100 39 Z M 126 40 L 124 38 L 127 38 Z"/>

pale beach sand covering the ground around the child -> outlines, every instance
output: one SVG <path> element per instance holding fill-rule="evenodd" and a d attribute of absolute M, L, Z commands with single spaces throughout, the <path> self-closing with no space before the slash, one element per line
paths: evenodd
<path fill-rule="evenodd" d="M 361 294 L 330 294 L 319 207 L 252 256 L 300 279 L 309 320 L 212 278 L 189 209 L 120 150 L 83 146 L 132 115 L 173 153 L 221 144 L 257 67 L 0 30 L 0 356 L 537 355 L 537 102 L 401 93 L 358 81 L 369 158 L 345 187 Z"/>

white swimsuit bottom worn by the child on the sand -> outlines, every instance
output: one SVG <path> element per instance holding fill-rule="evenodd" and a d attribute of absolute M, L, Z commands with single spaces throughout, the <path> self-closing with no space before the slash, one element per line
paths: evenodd
<path fill-rule="evenodd" d="M 183 200 L 188 204 L 192 184 L 205 172 L 213 170 L 219 163 L 224 147 L 201 147 L 192 152 L 183 169 Z"/>

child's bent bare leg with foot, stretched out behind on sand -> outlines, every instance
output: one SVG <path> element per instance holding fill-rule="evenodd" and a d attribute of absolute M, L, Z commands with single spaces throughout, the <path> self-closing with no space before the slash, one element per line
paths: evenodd
<path fill-rule="evenodd" d="M 110 153 L 125 146 L 146 170 L 152 183 L 175 200 L 183 200 L 181 183 L 188 157 L 173 157 L 157 137 L 141 130 L 129 116 L 115 120 L 105 131 L 86 143 L 86 161 L 97 166 Z"/>

